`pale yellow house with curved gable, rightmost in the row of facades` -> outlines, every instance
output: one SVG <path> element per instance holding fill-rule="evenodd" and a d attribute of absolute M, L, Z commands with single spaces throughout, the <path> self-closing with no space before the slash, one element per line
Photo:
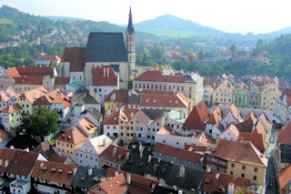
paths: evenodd
<path fill-rule="evenodd" d="M 262 89 L 261 94 L 261 108 L 274 110 L 276 98 L 281 96 L 279 87 L 276 84 L 269 84 Z"/>

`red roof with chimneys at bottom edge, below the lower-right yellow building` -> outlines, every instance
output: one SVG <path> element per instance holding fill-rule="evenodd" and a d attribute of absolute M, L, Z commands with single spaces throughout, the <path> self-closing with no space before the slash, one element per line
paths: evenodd
<path fill-rule="evenodd" d="M 217 174 L 219 174 L 218 179 L 216 179 Z M 249 182 L 249 179 L 226 175 L 221 172 L 210 171 L 205 174 L 201 185 L 201 190 L 207 193 L 220 193 L 222 189 L 225 189 L 227 193 L 228 184 L 234 184 L 235 190 L 236 188 L 247 190 Z"/>

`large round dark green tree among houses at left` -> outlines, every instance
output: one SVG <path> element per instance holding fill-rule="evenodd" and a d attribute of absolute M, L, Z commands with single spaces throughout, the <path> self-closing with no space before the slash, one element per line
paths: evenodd
<path fill-rule="evenodd" d="M 34 114 L 25 116 L 23 122 L 22 128 L 25 128 L 28 134 L 44 139 L 57 131 L 58 114 L 55 110 L 41 107 L 35 109 Z"/>

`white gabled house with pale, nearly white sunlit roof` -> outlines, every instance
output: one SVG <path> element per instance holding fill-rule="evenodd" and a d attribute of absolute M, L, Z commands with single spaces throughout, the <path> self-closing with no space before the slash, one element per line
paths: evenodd
<path fill-rule="evenodd" d="M 111 144 L 114 142 L 105 135 L 88 139 L 82 147 L 75 149 L 75 164 L 98 168 L 99 155 Z"/>

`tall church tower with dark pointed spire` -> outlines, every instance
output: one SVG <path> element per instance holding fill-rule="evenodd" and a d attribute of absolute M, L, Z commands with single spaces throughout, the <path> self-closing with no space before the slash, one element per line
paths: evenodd
<path fill-rule="evenodd" d="M 128 25 L 126 27 L 125 48 L 127 51 L 127 61 L 129 65 L 130 79 L 135 78 L 135 27 L 131 15 L 131 6 L 129 8 Z"/>

